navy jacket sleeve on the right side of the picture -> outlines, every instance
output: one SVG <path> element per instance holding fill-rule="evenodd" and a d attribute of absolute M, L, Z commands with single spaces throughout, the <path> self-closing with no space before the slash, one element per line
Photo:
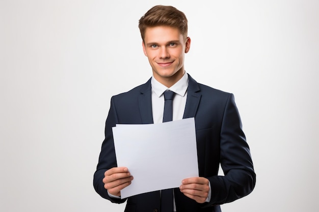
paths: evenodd
<path fill-rule="evenodd" d="M 252 192 L 256 183 L 250 149 L 232 94 L 229 94 L 221 124 L 220 163 L 224 176 L 207 177 L 211 186 L 209 205 L 242 198 Z"/>

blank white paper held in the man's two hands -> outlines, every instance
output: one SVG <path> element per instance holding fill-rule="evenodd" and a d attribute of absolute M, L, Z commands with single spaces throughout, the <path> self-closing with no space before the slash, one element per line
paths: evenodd
<path fill-rule="evenodd" d="M 182 179 L 198 176 L 194 118 L 112 130 L 117 165 L 134 176 L 121 198 L 176 188 Z"/>

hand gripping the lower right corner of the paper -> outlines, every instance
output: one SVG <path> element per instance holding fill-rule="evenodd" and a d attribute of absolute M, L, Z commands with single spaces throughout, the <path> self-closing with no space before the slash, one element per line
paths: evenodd
<path fill-rule="evenodd" d="M 205 177 L 191 177 L 182 180 L 179 187 L 185 196 L 194 199 L 198 203 L 204 203 L 208 197 L 209 180 Z"/>

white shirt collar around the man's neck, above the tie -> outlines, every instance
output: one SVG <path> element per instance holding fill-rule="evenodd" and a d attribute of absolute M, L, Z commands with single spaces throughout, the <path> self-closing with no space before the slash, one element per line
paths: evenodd
<path fill-rule="evenodd" d="M 188 87 L 188 74 L 184 72 L 184 75 L 182 78 L 180 78 L 175 84 L 173 84 L 171 87 L 166 87 L 161 82 L 158 82 L 154 76 L 152 76 L 151 79 L 151 85 L 154 93 L 157 97 L 161 97 L 165 90 L 169 89 L 172 90 L 172 92 L 178 94 L 179 96 L 185 96 L 187 87 Z"/>

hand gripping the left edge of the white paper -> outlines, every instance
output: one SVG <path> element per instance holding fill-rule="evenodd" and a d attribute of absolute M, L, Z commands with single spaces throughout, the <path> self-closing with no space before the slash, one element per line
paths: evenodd
<path fill-rule="evenodd" d="M 121 190 L 131 184 L 133 176 L 126 167 L 114 167 L 104 172 L 104 188 L 109 194 L 121 196 Z"/>

